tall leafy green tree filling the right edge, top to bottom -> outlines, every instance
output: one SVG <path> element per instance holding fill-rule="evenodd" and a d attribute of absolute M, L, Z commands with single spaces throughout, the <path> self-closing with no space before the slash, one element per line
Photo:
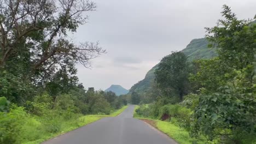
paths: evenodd
<path fill-rule="evenodd" d="M 253 55 L 256 25 L 238 20 L 224 5 L 218 25 L 206 28 L 207 38 L 218 47 L 219 57 L 201 61 L 191 78 L 201 83 L 191 135 L 221 143 L 245 142 L 255 136 L 256 93 L 253 85 Z M 210 45 L 213 47 L 214 45 Z"/>

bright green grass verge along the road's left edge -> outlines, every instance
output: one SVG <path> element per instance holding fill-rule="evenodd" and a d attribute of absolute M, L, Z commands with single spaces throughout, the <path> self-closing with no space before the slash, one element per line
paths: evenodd
<path fill-rule="evenodd" d="M 23 139 L 21 140 L 22 144 L 37 144 L 42 143 L 45 140 L 52 139 L 53 137 L 67 133 L 68 131 L 75 130 L 84 125 L 93 123 L 100 120 L 104 117 L 114 117 L 118 116 L 123 112 L 127 106 L 121 107 L 121 109 L 110 113 L 110 115 L 86 115 L 80 116 L 78 118 L 73 118 L 68 121 L 59 120 L 57 123 L 60 125 L 60 130 L 56 133 L 49 133 L 44 129 L 44 126 L 39 121 L 39 117 L 32 117 L 27 119 L 27 122 L 24 124 L 23 128 L 24 133 L 22 133 Z M 54 125 L 53 125 L 54 126 Z"/>

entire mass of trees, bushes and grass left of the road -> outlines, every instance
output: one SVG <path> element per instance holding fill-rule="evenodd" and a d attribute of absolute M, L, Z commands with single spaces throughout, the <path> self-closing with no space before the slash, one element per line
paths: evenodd
<path fill-rule="evenodd" d="M 126 105 L 113 92 L 86 90 L 76 63 L 105 51 L 74 44 L 95 3 L 78 0 L 0 1 L 0 143 L 35 143 L 110 115 Z"/>

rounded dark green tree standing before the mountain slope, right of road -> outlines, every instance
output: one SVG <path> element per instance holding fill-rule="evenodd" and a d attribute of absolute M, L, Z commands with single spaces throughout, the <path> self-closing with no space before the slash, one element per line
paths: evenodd
<path fill-rule="evenodd" d="M 173 52 L 162 58 L 155 71 L 155 81 L 158 87 L 168 96 L 179 95 L 182 100 L 188 89 L 189 62 L 182 52 Z"/>

